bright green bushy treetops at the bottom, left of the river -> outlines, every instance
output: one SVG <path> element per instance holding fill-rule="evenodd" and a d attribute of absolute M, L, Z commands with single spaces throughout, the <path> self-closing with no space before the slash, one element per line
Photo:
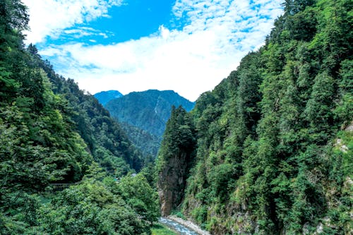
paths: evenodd
<path fill-rule="evenodd" d="M 148 213 L 157 215 L 157 203 L 155 200 L 145 201 L 147 195 L 121 191 L 136 187 L 145 188 L 150 195 L 153 194 L 143 176 L 136 176 L 132 183 L 130 179 L 131 176 L 126 176 L 116 183 L 111 178 L 99 181 L 97 175 L 87 177 L 78 186 L 71 186 L 51 203 L 40 207 L 40 224 L 35 229 L 49 234 L 148 233 L 150 222 L 157 219 L 148 217 L 150 220 L 147 220 L 145 216 Z M 126 193 L 129 193 L 128 198 Z"/>

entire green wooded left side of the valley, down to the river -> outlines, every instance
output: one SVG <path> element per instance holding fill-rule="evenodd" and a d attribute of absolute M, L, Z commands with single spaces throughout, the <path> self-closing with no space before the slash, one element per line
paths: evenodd
<path fill-rule="evenodd" d="M 0 1 L 0 234 L 148 234 L 157 194 L 143 172 L 124 176 L 140 171 L 140 152 L 94 97 L 25 48 L 27 25 L 20 1 Z"/>

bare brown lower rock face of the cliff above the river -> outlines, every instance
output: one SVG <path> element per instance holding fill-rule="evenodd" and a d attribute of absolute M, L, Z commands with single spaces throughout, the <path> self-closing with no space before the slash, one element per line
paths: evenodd
<path fill-rule="evenodd" d="M 180 152 L 169 159 L 168 164 L 160 172 L 158 194 L 160 195 L 162 216 L 168 216 L 180 205 L 186 186 L 186 174 L 189 171 L 188 155 Z"/>

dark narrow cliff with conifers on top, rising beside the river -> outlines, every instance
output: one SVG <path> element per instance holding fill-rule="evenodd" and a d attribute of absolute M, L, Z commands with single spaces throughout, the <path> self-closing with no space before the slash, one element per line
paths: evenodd
<path fill-rule="evenodd" d="M 157 161 L 158 193 L 163 216 L 181 205 L 195 149 L 195 128 L 190 114 L 182 107 L 172 107 Z"/>

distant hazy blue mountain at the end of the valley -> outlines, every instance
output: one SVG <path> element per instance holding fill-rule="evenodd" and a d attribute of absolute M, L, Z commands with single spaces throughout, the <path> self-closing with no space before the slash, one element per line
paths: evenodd
<path fill-rule="evenodd" d="M 146 90 L 110 100 L 105 107 L 143 155 L 155 157 L 172 105 L 190 111 L 194 103 L 172 90 Z"/>

